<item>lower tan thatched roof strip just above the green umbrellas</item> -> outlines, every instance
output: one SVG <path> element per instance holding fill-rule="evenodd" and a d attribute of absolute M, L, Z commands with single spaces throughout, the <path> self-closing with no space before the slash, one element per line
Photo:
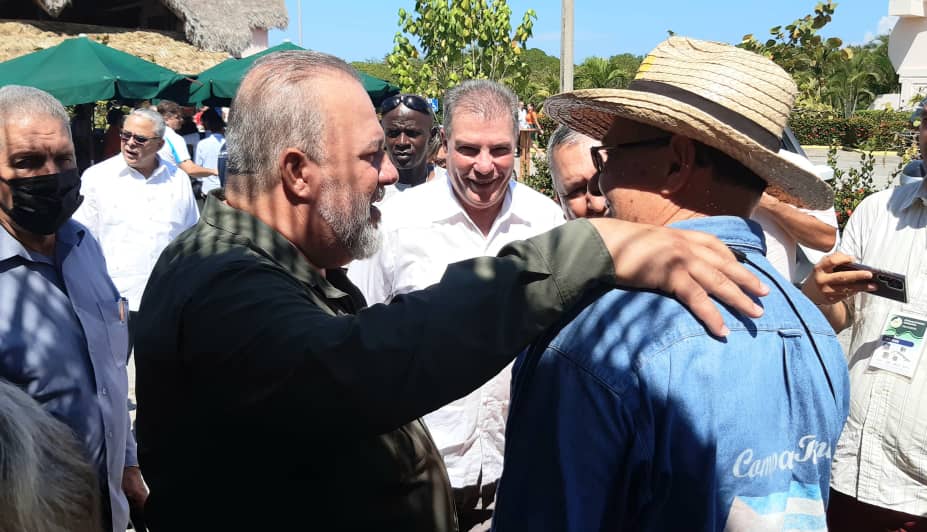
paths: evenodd
<path fill-rule="evenodd" d="M 199 74 L 229 57 L 225 52 L 201 50 L 186 42 L 181 33 L 133 31 L 68 22 L 0 20 L 0 61 L 55 46 L 81 33 L 182 74 Z"/>

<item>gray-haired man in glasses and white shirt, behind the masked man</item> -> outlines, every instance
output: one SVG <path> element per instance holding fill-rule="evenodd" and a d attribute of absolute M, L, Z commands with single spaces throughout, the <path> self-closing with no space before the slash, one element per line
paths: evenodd
<path fill-rule="evenodd" d="M 113 283 L 129 300 L 130 351 L 132 316 L 155 262 L 171 240 L 199 219 L 190 178 L 158 156 L 164 131 L 158 113 L 132 111 L 120 132 L 121 153 L 84 172 L 84 203 L 74 213 L 97 237 Z"/>

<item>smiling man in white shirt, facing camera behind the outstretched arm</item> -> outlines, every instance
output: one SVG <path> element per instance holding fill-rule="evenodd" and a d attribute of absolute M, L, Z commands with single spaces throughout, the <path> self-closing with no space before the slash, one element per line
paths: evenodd
<path fill-rule="evenodd" d="M 444 100 L 447 176 L 380 207 L 383 246 L 348 276 L 368 304 L 438 282 L 448 264 L 495 255 L 503 246 L 564 222 L 549 198 L 511 179 L 515 95 L 486 80 L 465 81 Z M 461 297 L 466 297 L 462 294 Z M 425 416 L 447 466 L 461 530 L 488 527 L 502 473 L 510 371 Z"/>

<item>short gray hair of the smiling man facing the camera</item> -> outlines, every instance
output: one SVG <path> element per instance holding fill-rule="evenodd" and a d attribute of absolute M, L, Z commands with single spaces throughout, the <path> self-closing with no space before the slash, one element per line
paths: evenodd
<path fill-rule="evenodd" d="M 444 131 L 447 138 L 453 134 L 458 107 L 485 119 L 507 114 L 512 119 L 512 137 L 518 142 L 518 98 L 505 85 L 488 79 L 470 79 L 449 89 L 444 95 Z"/>

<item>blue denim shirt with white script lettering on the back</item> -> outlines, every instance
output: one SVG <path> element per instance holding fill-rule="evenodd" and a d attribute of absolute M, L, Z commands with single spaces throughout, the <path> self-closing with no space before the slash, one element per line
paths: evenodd
<path fill-rule="evenodd" d="M 493 529 L 825 530 L 846 362 L 741 218 L 674 227 L 743 252 L 765 314 L 712 337 L 678 302 L 613 290 L 513 371 Z"/>

